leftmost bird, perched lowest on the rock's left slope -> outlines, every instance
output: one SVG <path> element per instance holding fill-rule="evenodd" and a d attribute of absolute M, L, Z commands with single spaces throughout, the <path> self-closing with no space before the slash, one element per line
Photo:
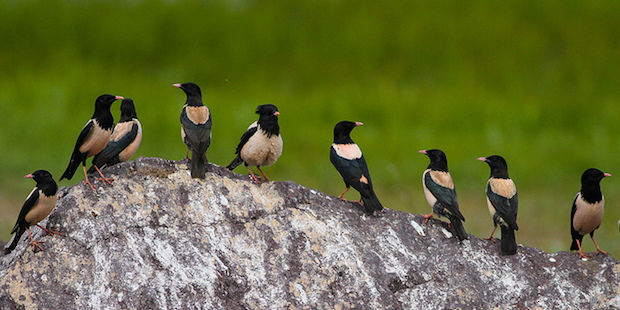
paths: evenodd
<path fill-rule="evenodd" d="M 30 236 L 30 244 L 32 245 L 33 251 L 36 247 L 43 250 L 43 247 L 40 245 L 43 241 L 34 241 L 32 234 L 30 233 L 30 226 L 37 225 L 48 234 L 61 235 L 61 233 L 57 231 L 53 231 L 39 225 L 39 222 L 47 217 L 56 205 L 56 192 L 58 191 L 58 185 L 56 185 L 52 174 L 46 170 L 37 170 L 26 175 L 25 178 L 33 179 L 37 182 L 37 185 L 32 192 L 30 192 L 28 198 L 26 198 L 26 201 L 17 216 L 17 222 L 15 223 L 13 230 L 11 230 L 12 234 L 15 233 L 15 237 L 13 237 L 13 242 L 9 245 L 9 247 L 4 250 L 4 254 L 9 254 L 15 249 L 24 232 L 28 232 L 28 235 Z"/>

